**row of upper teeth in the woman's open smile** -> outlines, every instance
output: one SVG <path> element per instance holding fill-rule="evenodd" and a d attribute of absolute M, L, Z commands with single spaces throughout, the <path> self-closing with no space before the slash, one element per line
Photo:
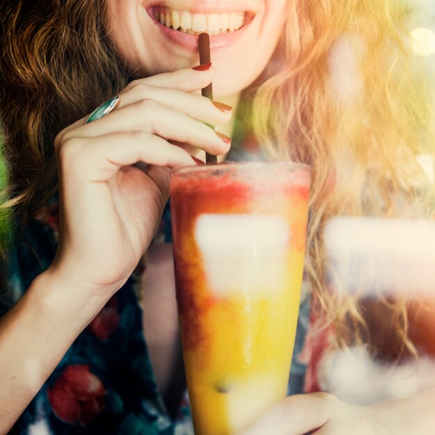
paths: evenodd
<path fill-rule="evenodd" d="M 245 22 L 244 12 L 205 15 L 160 7 L 154 13 L 165 26 L 192 34 L 204 31 L 210 35 L 232 32 L 242 27 Z"/>

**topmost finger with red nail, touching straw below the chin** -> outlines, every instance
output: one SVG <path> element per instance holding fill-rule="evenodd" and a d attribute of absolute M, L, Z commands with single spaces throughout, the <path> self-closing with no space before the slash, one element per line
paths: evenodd
<path fill-rule="evenodd" d="M 163 72 L 162 74 L 156 74 L 155 76 L 145 77 L 145 79 L 138 79 L 131 81 L 126 88 L 118 95 L 122 95 L 123 92 L 133 88 L 138 84 L 152 85 L 157 88 L 172 88 L 177 90 L 183 90 L 184 92 L 193 92 L 205 88 L 211 83 L 215 75 L 215 69 L 213 66 L 203 71 L 198 71 L 192 68 L 178 69 L 173 72 Z"/>

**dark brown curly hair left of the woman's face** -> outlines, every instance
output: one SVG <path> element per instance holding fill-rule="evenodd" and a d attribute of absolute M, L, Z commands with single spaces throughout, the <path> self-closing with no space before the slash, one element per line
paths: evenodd
<path fill-rule="evenodd" d="M 56 190 L 56 134 L 126 83 L 106 22 L 100 0 L 0 4 L 3 154 L 8 197 L 24 220 Z"/>

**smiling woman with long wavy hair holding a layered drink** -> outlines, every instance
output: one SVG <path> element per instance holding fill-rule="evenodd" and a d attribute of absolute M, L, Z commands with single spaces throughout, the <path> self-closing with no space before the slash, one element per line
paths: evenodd
<path fill-rule="evenodd" d="M 170 227 L 168 171 L 201 164 L 197 151 L 311 166 L 303 352 L 290 377 L 292 393 L 309 394 L 250 433 L 432 434 L 432 391 L 370 408 L 315 391 L 334 391 L 320 368 L 334 371 L 340 348 L 393 365 L 432 349 L 419 301 L 349 295 L 324 239 L 332 217 L 434 219 L 434 62 L 412 31 L 433 29 L 433 13 L 428 0 L 2 0 L 0 434 L 184 430 L 173 419 L 183 385 L 171 388 L 153 347 L 178 350 L 161 334 L 176 334 L 174 299 L 162 297 L 171 249 L 149 245 Z M 197 65 L 202 31 L 213 64 Z M 211 81 L 219 101 L 200 95 Z"/>

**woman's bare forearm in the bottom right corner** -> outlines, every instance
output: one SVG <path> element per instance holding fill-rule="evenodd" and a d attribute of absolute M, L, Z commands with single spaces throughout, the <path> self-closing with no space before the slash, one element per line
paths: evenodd
<path fill-rule="evenodd" d="M 432 435 L 435 432 L 435 389 L 402 400 L 372 406 L 377 421 L 395 435 Z"/>

